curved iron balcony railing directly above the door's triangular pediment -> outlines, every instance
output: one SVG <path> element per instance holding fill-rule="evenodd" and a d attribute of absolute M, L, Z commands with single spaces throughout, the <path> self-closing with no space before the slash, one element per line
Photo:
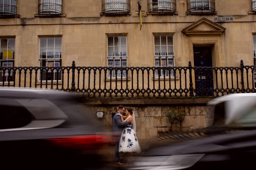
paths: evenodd
<path fill-rule="evenodd" d="M 215 11 L 215 0 L 187 0 L 187 11 Z"/>

